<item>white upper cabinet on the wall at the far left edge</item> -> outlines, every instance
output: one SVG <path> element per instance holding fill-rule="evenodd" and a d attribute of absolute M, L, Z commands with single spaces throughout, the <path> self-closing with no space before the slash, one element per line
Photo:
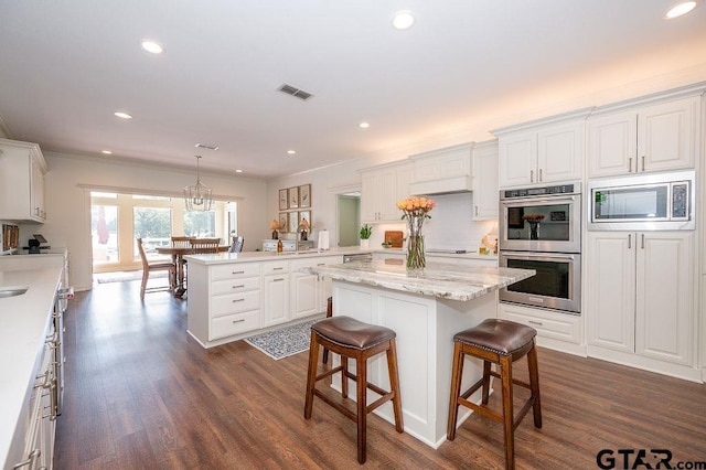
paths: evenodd
<path fill-rule="evenodd" d="M 36 143 L 0 139 L 0 220 L 44 222 L 44 174 Z"/>

